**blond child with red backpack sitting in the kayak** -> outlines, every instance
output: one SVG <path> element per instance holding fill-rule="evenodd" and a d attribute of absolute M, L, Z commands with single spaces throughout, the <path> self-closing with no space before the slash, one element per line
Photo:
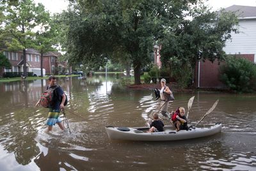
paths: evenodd
<path fill-rule="evenodd" d="M 173 114 L 173 117 L 175 117 L 173 124 L 174 124 L 176 130 L 177 131 L 188 130 L 187 117 L 185 116 L 185 108 L 179 107 L 177 109 L 177 111 Z M 172 117 L 172 120 L 173 120 L 173 117 Z"/>

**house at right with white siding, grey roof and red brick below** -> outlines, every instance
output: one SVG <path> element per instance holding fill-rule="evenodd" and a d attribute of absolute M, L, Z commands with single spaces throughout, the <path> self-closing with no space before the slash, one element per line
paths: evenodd
<path fill-rule="evenodd" d="M 232 33 L 232 40 L 226 42 L 223 50 L 226 54 L 244 57 L 256 63 L 256 6 L 233 5 L 225 10 L 236 12 L 239 19 L 239 34 Z M 218 61 L 213 64 L 210 61 L 199 62 L 195 71 L 195 86 L 223 87 L 219 80 L 219 68 Z"/>

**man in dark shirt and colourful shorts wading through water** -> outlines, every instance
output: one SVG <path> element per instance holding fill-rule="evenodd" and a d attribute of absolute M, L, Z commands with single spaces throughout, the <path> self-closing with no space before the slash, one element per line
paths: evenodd
<path fill-rule="evenodd" d="M 66 100 L 65 93 L 61 89 L 59 85 L 57 85 L 56 77 L 49 77 L 49 85 L 47 89 L 54 89 L 54 96 L 52 98 L 52 102 L 49 106 L 49 114 L 47 119 L 47 131 L 52 131 L 52 126 L 58 124 L 61 130 L 64 130 L 63 124 L 60 119 L 60 110 L 64 109 L 64 103 Z M 40 105 L 40 100 L 36 103 L 36 106 Z"/>

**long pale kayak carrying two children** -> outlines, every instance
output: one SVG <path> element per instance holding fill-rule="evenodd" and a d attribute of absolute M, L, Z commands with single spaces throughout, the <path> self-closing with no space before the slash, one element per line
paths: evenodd
<path fill-rule="evenodd" d="M 113 127 L 107 126 L 108 137 L 112 140 L 134 141 L 173 141 L 200 138 L 220 133 L 221 123 L 216 123 L 209 128 L 189 128 L 189 130 L 173 130 L 173 126 L 164 126 L 164 131 L 147 133 L 148 127 Z"/>

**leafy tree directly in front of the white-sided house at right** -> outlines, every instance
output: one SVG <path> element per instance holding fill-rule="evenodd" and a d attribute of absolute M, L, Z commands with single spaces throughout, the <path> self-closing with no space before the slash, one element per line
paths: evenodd
<path fill-rule="evenodd" d="M 235 13 L 209 11 L 203 4 L 189 11 L 191 19 L 184 19 L 172 31 L 166 28 L 162 45 L 161 61 L 170 68 L 180 87 L 186 87 L 194 77 L 198 60 L 211 62 L 225 59 L 226 40 L 231 32 L 237 31 L 238 20 Z M 178 82 L 179 84 L 179 82 Z"/>

